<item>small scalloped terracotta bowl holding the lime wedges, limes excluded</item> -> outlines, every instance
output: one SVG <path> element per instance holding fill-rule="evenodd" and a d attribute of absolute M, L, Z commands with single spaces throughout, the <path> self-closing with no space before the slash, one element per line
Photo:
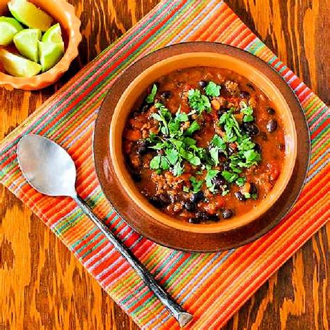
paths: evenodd
<path fill-rule="evenodd" d="M 78 56 L 78 45 L 81 42 L 80 20 L 74 13 L 74 7 L 65 0 L 29 0 L 54 18 L 54 24 L 61 25 L 65 54 L 52 69 L 35 77 L 13 77 L 1 70 L 0 86 L 12 86 L 26 91 L 45 88 L 54 84 L 70 66 L 74 58 Z M 0 0 L 0 16 L 11 16 L 7 3 L 9 0 Z"/>

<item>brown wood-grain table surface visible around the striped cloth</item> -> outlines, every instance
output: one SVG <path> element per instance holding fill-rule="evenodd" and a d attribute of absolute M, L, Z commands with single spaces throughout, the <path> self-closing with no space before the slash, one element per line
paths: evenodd
<path fill-rule="evenodd" d="M 206 0 L 201 0 L 206 1 Z M 0 88 L 0 138 L 157 0 L 70 0 L 84 40 L 70 72 L 39 92 Z M 228 0 L 243 21 L 329 104 L 328 0 Z M 72 253 L 1 187 L 0 329 L 137 329 Z M 246 302 L 225 329 L 329 329 L 330 224 Z"/>

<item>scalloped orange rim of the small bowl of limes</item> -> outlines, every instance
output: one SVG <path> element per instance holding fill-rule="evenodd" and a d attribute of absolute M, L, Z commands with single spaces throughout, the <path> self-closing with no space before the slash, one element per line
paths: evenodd
<path fill-rule="evenodd" d="M 7 3 L 10 0 L 6 1 Z M 31 0 L 33 3 L 33 0 Z M 63 11 L 63 18 L 70 22 L 70 31 L 68 31 L 68 47 L 65 53 L 56 65 L 50 70 L 37 74 L 34 77 L 14 77 L 10 74 L 0 72 L 0 86 L 11 86 L 16 89 L 23 89 L 26 91 L 38 90 L 53 84 L 58 80 L 64 72 L 68 71 L 70 63 L 79 55 L 78 46 L 81 42 L 82 36 L 80 33 L 81 21 L 75 13 L 74 6 L 67 0 L 56 0 L 56 5 Z M 38 5 L 39 7 L 39 5 Z M 40 6 L 47 11 L 47 4 Z M 48 12 L 49 15 L 52 13 Z M 61 22 L 60 22 L 61 24 Z"/>

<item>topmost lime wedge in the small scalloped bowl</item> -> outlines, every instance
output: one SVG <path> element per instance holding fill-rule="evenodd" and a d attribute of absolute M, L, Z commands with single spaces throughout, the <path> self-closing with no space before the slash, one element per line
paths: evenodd
<path fill-rule="evenodd" d="M 8 8 L 17 21 L 30 28 L 47 31 L 53 21 L 52 17 L 26 0 L 11 0 L 8 2 Z"/>

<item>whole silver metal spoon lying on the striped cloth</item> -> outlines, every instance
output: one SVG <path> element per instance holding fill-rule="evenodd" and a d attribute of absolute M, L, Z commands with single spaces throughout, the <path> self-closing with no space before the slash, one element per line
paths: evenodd
<path fill-rule="evenodd" d="M 95 223 L 115 248 L 129 262 L 148 288 L 162 301 L 162 304 L 184 327 L 192 315 L 185 312 L 169 294 L 161 288 L 155 278 L 148 272 L 138 259 L 120 242 L 104 223 L 95 217 L 88 205 L 77 195 L 74 187 L 76 168 L 68 152 L 55 142 L 39 135 L 25 135 L 17 146 L 17 157 L 26 180 L 41 194 L 48 196 L 69 196 L 79 205 L 81 210 Z"/>

